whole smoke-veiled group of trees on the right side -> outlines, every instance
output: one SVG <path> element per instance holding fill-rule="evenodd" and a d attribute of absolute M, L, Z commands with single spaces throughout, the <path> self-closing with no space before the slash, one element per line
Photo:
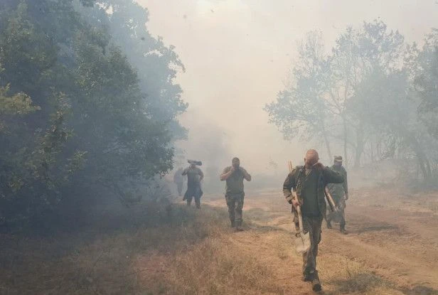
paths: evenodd
<path fill-rule="evenodd" d="M 415 181 L 437 178 L 438 31 L 424 45 L 405 42 L 383 21 L 346 28 L 331 50 L 307 33 L 270 122 L 285 137 L 316 141 L 329 159 L 341 146 L 346 165 L 391 159 Z"/>

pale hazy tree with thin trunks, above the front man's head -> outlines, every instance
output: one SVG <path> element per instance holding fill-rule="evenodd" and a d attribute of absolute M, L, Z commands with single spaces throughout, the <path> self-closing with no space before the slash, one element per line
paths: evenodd
<path fill-rule="evenodd" d="M 388 31 L 381 21 L 365 22 L 358 30 L 347 28 L 329 54 L 324 53 L 321 36 L 311 33 L 299 46 L 292 81 L 265 108 L 270 122 L 285 136 L 322 139 L 330 157 L 331 145 L 341 145 L 346 164 L 351 150 L 354 166 L 359 166 L 373 133 L 356 107 L 368 100 L 362 85 L 380 71 L 397 70 L 403 46 L 400 33 Z"/>

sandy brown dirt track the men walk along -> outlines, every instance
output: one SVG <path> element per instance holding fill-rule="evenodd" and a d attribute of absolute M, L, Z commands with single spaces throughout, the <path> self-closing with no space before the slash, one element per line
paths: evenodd
<path fill-rule="evenodd" d="M 319 269 L 326 294 L 438 294 L 438 216 L 412 206 L 407 210 L 379 203 L 377 199 L 364 203 L 361 198 L 368 197 L 366 192 L 351 195 L 346 210 L 349 235 L 341 235 L 336 225 L 333 230 L 327 230 L 325 222 L 323 225 Z M 221 199 L 208 203 L 225 207 Z M 288 249 L 292 240 L 279 242 L 291 229 L 287 203 L 277 192 L 248 194 L 244 210 L 247 231 L 236 233 L 233 242 L 274 265 L 278 279 L 284 280 L 284 294 L 307 294 L 308 284 L 293 283 L 292 276 L 300 274 L 301 258 L 291 254 L 292 245 Z M 366 271 L 350 275 L 349 264 L 360 264 Z M 334 275 L 338 267 L 346 267 L 349 278 Z M 360 286 L 361 279 L 365 284 L 368 280 L 385 287 L 368 292 Z"/>

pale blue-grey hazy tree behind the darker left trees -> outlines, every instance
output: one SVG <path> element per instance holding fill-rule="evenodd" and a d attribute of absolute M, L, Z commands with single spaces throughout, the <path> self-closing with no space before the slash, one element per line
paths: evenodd
<path fill-rule="evenodd" d="M 186 129 L 177 117 L 187 104 L 181 100 L 180 85 L 175 83 L 178 71 L 185 69 L 175 48 L 166 47 L 161 37 L 154 38 L 149 33 L 149 11 L 133 0 L 104 0 L 92 9 L 77 9 L 93 26 L 109 31 L 111 42 L 134 65 L 144 103 L 153 119 L 165 124 L 173 139 L 185 138 Z"/>

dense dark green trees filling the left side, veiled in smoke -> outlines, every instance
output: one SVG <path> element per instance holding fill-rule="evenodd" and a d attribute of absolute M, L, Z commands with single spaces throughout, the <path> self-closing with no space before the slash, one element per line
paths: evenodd
<path fill-rule="evenodd" d="M 171 170 L 184 67 L 147 18 L 134 1 L 1 1 L 2 225 L 126 202 Z"/>

